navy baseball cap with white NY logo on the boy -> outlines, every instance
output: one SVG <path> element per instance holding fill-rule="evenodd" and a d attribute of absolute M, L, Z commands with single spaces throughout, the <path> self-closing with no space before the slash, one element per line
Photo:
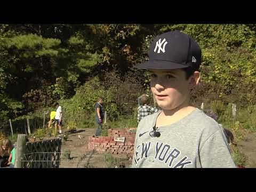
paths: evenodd
<path fill-rule="evenodd" d="M 193 38 L 180 31 L 171 31 L 154 38 L 149 48 L 149 61 L 135 68 L 180 69 L 201 64 L 201 48 Z"/>

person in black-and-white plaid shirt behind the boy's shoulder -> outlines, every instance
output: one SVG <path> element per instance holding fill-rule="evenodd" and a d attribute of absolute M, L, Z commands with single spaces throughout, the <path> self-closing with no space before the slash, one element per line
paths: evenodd
<path fill-rule="evenodd" d="M 147 115 L 156 113 L 157 111 L 159 111 L 159 109 L 157 109 L 156 107 L 151 107 L 148 105 L 148 97 L 146 94 L 143 94 L 141 97 L 141 102 L 142 105 L 138 107 L 138 115 L 137 115 L 137 123 L 140 123 L 140 120 L 143 117 L 146 117 Z"/>

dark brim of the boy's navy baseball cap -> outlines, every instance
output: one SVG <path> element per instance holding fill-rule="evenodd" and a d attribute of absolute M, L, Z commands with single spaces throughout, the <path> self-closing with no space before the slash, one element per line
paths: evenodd
<path fill-rule="evenodd" d="M 180 63 L 171 62 L 171 61 L 162 61 L 162 60 L 151 60 L 144 63 L 141 63 L 134 68 L 139 69 L 181 69 L 187 68 L 189 66 L 182 65 Z"/>

